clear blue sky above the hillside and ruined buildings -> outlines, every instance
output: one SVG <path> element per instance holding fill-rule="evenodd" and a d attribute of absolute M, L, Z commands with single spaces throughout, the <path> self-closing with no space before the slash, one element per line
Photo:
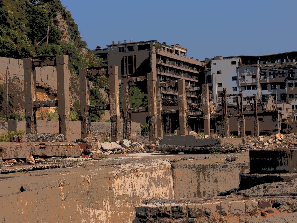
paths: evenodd
<path fill-rule="evenodd" d="M 158 40 L 188 48 L 188 57 L 297 51 L 296 0 L 61 0 L 89 49 Z"/>

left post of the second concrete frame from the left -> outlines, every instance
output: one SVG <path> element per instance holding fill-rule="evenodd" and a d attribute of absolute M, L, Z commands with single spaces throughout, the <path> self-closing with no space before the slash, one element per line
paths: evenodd
<path fill-rule="evenodd" d="M 89 98 L 89 85 L 87 79 L 87 69 L 79 69 L 79 84 L 80 84 L 80 117 L 81 117 L 81 137 L 90 137 L 90 124 L 91 119 L 89 112 L 90 98 Z"/>

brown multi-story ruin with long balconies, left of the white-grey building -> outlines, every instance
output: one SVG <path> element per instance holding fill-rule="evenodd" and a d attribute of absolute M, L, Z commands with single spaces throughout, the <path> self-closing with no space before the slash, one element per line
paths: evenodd
<path fill-rule="evenodd" d="M 162 82 L 175 82 L 184 79 L 187 87 L 187 100 L 198 105 L 198 87 L 204 83 L 205 63 L 187 58 L 187 48 L 176 45 L 158 43 L 157 40 L 141 41 L 100 46 L 90 52 L 103 58 L 108 65 L 119 66 L 121 75 L 129 77 L 146 76 L 154 73 Z M 199 83 L 199 81 L 201 83 Z M 138 86 L 146 92 L 146 85 Z M 177 98 L 177 88 L 173 85 L 162 88 L 162 98 Z"/>

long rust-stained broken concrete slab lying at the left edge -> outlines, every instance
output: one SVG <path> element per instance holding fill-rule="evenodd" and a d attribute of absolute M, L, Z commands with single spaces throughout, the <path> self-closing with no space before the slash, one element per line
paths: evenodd
<path fill-rule="evenodd" d="M 81 150 L 74 142 L 0 143 L 0 156 L 3 159 L 27 158 L 30 155 L 78 157 L 81 155 Z"/>

